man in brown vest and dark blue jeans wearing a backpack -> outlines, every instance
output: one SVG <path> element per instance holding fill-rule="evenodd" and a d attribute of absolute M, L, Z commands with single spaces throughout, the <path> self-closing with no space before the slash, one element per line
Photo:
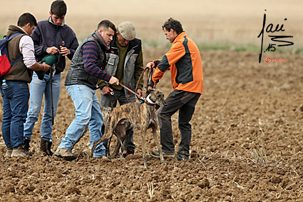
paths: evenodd
<path fill-rule="evenodd" d="M 11 70 L 1 79 L 6 80 L 7 89 L 2 87 L 1 95 L 3 101 L 2 136 L 6 144 L 5 156 L 26 156 L 24 149 L 24 122 L 29 109 L 29 86 L 33 71 L 48 71 L 51 66 L 38 64 L 35 60 L 34 42 L 31 33 L 37 21 L 29 13 L 22 14 L 18 19 L 18 26 L 10 25 L 7 36 L 21 33 L 15 36 L 8 44 L 9 58 L 11 62 L 19 60 Z"/>

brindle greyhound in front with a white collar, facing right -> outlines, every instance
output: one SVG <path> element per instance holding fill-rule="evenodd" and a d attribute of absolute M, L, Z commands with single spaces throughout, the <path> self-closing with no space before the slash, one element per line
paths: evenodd
<path fill-rule="evenodd" d="M 143 104 L 127 103 L 113 109 L 111 114 L 108 116 L 108 120 L 106 121 L 107 124 L 105 128 L 105 133 L 103 134 L 102 138 L 93 143 L 93 148 L 91 150 L 92 153 L 99 143 L 106 141 L 113 136 L 113 131 L 115 131 L 119 122 L 121 123 L 121 121 L 129 121 L 134 128 L 140 129 L 140 136 L 142 137 L 143 143 L 142 154 L 144 166 L 147 166 L 147 148 L 145 144 L 145 133 L 148 128 L 153 129 L 153 138 L 155 139 L 158 151 L 160 152 L 160 160 L 162 162 L 165 162 L 156 133 L 158 127 L 158 118 L 155 108 L 156 105 L 162 106 L 165 104 L 164 95 L 158 89 L 148 90 L 147 95 L 148 96 L 146 96 L 146 101 Z"/>

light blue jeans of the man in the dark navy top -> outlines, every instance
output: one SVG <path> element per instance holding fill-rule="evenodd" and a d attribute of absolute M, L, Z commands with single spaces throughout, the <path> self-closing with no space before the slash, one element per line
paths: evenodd
<path fill-rule="evenodd" d="M 53 116 L 56 116 L 57 106 L 61 89 L 61 74 L 55 74 L 52 79 L 53 87 Z M 36 73 L 30 86 L 31 96 L 29 98 L 29 112 L 27 113 L 26 123 L 24 123 L 24 138 L 31 140 L 33 128 L 38 121 L 44 94 L 44 110 L 41 122 L 41 141 L 51 141 L 53 124 L 51 118 L 51 76 L 46 74 L 43 80 L 38 79 Z"/>

